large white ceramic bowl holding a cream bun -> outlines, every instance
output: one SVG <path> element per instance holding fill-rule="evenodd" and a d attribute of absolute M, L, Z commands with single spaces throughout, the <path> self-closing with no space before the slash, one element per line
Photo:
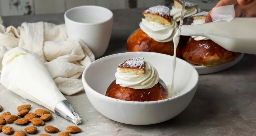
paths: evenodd
<path fill-rule="evenodd" d="M 159 73 L 165 83 L 171 83 L 173 56 L 152 52 L 119 53 L 94 61 L 82 75 L 86 95 L 102 115 L 117 122 L 132 125 L 149 125 L 167 121 L 180 114 L 191 102 L 198 84 L 196 69 L 177 58 L 174 86 L 178 95 L 160 101 L 133 102 L 105 96 L 115 80 L 117 66 L 125 60 L 144 57 Z"/>

